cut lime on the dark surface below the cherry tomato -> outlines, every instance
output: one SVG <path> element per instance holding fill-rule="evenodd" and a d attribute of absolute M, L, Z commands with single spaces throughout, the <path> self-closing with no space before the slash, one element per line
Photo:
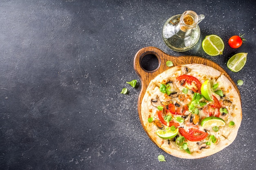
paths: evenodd
<path fill-rule="evenodd" d="M 247 54 L 248 53 L 240 52 L 233 55 L 229 59 L 229 61 L 227 61 L 227 67 L 229 68 L 229 70 L 231 70 L 232 72 L 240 71 L 245 66 Z"/>

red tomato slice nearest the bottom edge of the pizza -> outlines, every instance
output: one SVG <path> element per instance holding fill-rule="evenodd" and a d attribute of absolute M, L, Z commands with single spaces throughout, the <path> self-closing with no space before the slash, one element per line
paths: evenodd
<path fill-rule="evenodd" d="M 203 132 L 195 128 L 190 128 L 188 132 L 186 132 L 184 128 L 179 128 L 179 132 L 187 140 L 192 142 L 201 141 L 208 136 L 207 132 Z"/>

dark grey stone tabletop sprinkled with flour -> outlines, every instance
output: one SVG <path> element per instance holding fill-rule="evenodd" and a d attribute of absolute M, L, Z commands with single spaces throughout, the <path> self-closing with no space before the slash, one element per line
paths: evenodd
<path fill-rule="evenodd" d="M 0 169 L 254 169 L 256 167 L 255 1 L 1 0 Z M 171 16 L 204 14 L 201 39 L 188 52 L 162 40 Z M 245 33 L 238 49 L 227 41 Z M 200 43 L 216 34 L 223 55 Z M 140 81 L 135 53 L 146 46 L 197 55 L 222 66 L 239 86 L 243 121 L 233 144 L 212 156 L 186 160 L 150 141 L 137 113 Z M 248 52 L 231 72 L 227 60 Z M 138 87 L 126 83 L 138 80 Z M 122 88 L 129 94 L 120 94 Z M 159 162 L 162 154 L 166 162 Z"/>

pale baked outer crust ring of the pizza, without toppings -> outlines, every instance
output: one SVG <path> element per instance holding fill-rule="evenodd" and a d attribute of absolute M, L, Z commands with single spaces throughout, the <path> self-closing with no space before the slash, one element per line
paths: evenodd
<path fill-rule="evenodd" d="M 157 107 L 152 105 L 151 100 L 155 100 L 156 98 L 159 98 L 160 101 L 163 100 L 163 93 L 159 91 L 159 86 L 161 83 L 166 84 L 169 81 L 175 80 L 177 76 L 182 75 L 184 73 L 182 72 L 182 68 L 184 67 L 189 69 L 186 74 L 197 77 L 201 83 L 209 78 L 211 78 L 213 83 L 219 83 L 219 88 L 223 89 L 223 92 L 225 93 L 225 96 L 221 100 L 232 101 L 232 107 L 227 106 L 229 116 L 227 120 L 225 120 L 226 126 L 220 127 L 219 134 L 216 134 L 216 136 L 219 136 L 218 142 L 216 142 L 216 144 L 212 144 L 210 148 L 204 148 L 200 150 L 198 148 L 201 144 L 204 144 L 205 141 L 186 141 L 191 148 L 191 154 L 186 153 L 184 150 L 180 150 L 175 142 L 171 141 L 173 139 L 167 140 L 158 137 L 156 134 L 156 131 L 158 130 L 157 126 L 148 122 L 148 118 L 150 117 L 153 117 L 154 119 L 158 118 Z M 220 96 L 215 96 L 220 100 Z M 217 153 L 225 147 L 229 146 L 235 140 L 242 120 L 242 108 L 240 97 L 236 92 L 236 89 L 224 74 L 214 68 L 202 64 L 178 65 L 166 70 L 165 72 L 156 76 L 152 81 L 150 81 L 141 102 L 141 119 L 145 131 L 148 133 L 150 139 L 152 139 L 152 141 L 157 146 L 159 146 L 159 148 L 162 148 L 166 153 L 175 157 L 195 159 L 213 155 L 214 153 Z M 230 121 L 235 122 L 235 125 L 232 128 L 230 128 L 228 125 Z M 180 135 L 180 133 L 178 134 Z"/>

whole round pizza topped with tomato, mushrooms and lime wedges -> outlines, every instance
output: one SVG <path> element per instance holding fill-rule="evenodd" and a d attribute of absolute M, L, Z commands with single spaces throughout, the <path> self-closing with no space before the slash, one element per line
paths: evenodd
<path fill-rule="evenodd" d="M 177 65 L 150 81 L 141 122 L 166 153 L 202 158 L 234 142 L 242 120 L 240 96 L 220 71 L 202 64 Z"/>

